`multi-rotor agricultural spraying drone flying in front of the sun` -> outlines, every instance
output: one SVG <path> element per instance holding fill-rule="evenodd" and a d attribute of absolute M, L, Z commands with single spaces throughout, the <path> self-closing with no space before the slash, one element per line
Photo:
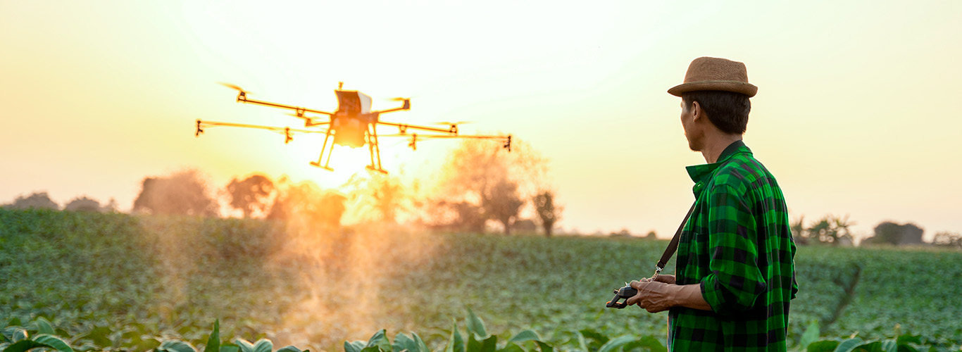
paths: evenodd
<path fill-rule="evenodd" d="M 351 148 L 363 147 L 367 145 L 367 149 L 370 152 L 370 164 L 367 165 L 368 170 L 377 171 L 381 173 L 388 173 L 384 168 L 381 167 L 381 148 L 379 138 L 409 138 L 408 146 L 412 150 L 418 150 L 418 141 L 426 139 L 440 139 L 440 138 L 474 138 L 474 139 L 494 139 L 500 140 L 502 142 L 502 147 L 511 152 L 511 135 L 508 136 L 466 136 L 458 134 L 458 124 L 466 123 L 466 121 L 459 122 L 439 122 L 443 125 L 447 125 L 446 129 L 428 127 L 428 126 L 418 126 L 403 123 L 393 123 L 381 120 L 382 113 L 393 113 L 411 110 L 411 98 L 392 98 L 393 101 L 402 101 L 403 105 L 399 108 L 382 110 L 382 111 L 371 111 L 370 103 L 371 98 L 367 94 L 362 93 L 357 90 L 344 90 L 344 83 L 341 82 L 338 85 L 338 89 L 334 90 L 334 93 L 338 96 L 338 110 L 334 113 L 323 112 L 314 109 L 307 109 L 301 107 L 295 107 L 286 104 L 277 104 L 261 100 L 254 100 L 247 97 L 248 91 L 231 84 L 221 83 L 221 85 L 228 88 L 233 88 L 238 91 L 237 102 L 244 104 L 254 104 L 270 108 L 278 108 L 291 111 L 291 116 L 300 118 L 304 120 L 304 127 L 292 129 L 291 127 L 274 127 L 274 126 L 262 126 L 262 125 L 249 125 L 241 123 L 231 123 L 231 122 L 217 122 L 217 121 L 202 121 L 197 120 L 197 130 L 194 132 L 194 137 L 200 137 L 204 133 L 205 128 L 211 127 L 241 127 L 241 128 L 253 128 L 267 130 L 274 133 L 279 133 L 284 135 L 284 143 L 290 143 L 293 139 L 294 134 L 323 134 L 324 144 L 320 148 L 320 155 L 316 162 L 311 162 L 311 165 L 334 171 L 333 168 L 329 166 L 331 163 L 331 153 L 334 151 L 334 145 L 342 145 Z M 388 135 L 379 135 L 377 133 L 378 126 L 390 126 L 397 128 L 397 133 Z M 410 133 L 409 133 L 410 131 Z M 418 134 L 420 132 L 420 134 Z M 330 141 L 330 145 L 328 142 Z M 324 153 L 327 153 L 326 157 Z"/>

